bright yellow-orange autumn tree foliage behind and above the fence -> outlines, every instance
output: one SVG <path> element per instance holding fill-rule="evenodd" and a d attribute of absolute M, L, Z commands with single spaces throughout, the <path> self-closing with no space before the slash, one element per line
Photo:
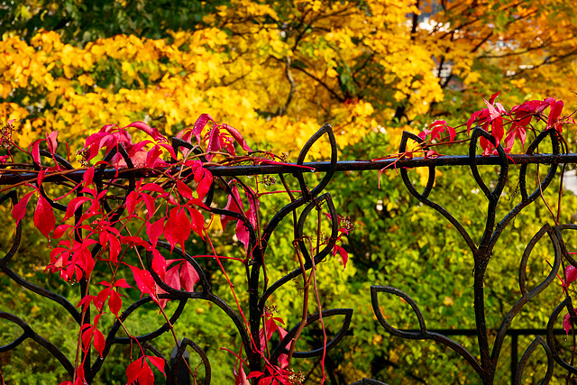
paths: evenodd
<path fill-rule="evenodd" d="M 18 2 L 16 16 L 60 9 L 41 3 Z M 136 120 L 170 135 L 208 113 L 282 151 L 329 122 L 343 148 L 431 113 L 462 119 L 499 90 L 570 101 L 576 23 L 554 0 L 231 0 L 161 39 L 5 32 L 0 116 L 20 122 L 23 146 Z"/>

